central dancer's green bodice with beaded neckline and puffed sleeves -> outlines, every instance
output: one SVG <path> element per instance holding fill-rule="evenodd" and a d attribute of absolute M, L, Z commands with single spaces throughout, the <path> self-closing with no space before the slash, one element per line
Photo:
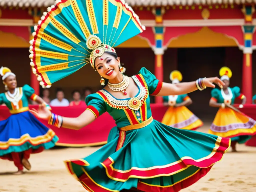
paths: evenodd
<path fill-rule="evenodd" d="M 133 98 L 117 99 L 106 90 L 100 90 L 86 98 L 86 104 L 96 117 L 108 112 L 118 127 L 142 123 L 152 116 L 149 94 L 157 95 L 162 88 L 162 82 L 147 69 L 142 68 L 132 76 L 138 87 L 138 93 Z"/>

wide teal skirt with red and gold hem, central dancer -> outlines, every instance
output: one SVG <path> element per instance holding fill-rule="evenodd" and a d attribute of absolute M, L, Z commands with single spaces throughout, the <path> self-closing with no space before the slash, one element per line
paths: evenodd
<path fill-rule="evenodd" d="M 108 144 L 88 157 L 67 160 L 65 164 L 88 191 L 137 188 L 176 192 L 206 175 L 221 160 L 230 141 L 154 120 L 126 132 L 114 127 Z"/>

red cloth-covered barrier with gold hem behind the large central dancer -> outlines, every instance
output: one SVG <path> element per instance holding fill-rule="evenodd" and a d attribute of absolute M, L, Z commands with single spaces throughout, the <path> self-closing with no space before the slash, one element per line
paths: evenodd
<path fill-rule="evenodd" d="M 37 105 L 30 105 L 29 108 L 37 109 Z M 157 121 L 162 121 L 165 111 L 167 110 L 162 104 L 151 104 L 152 116 Z M 52 112 L 65 117 L 77 117 L 85 108 L 78 107 L 52 107 Z M 7 119 L 10 116 L 9 110 L 6 106 L 0 106 L 0 121 Z M 41 121 L 41 120 L 40 120 Z M 83 146 L 95 146 L 103 145 L 108 139 L 108 134 L 112 127 L 116 126 L 113 118 L 104 113 L 97 118 L 90 125 L 83 127 L 79 131 L 56 128 L 49 126 L 46 121 L 41 121 L 46 126 L 55 131 L 59 137 L 58 146 L 68 147 L 83 147 Z"/>

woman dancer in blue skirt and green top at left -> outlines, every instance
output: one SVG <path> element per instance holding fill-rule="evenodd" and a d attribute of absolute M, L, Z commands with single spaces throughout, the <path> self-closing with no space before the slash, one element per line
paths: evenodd
<path fill-rule="evenodd" d="M 53 147 L 58 137 L 28 111 L 29 99 L 44 103 L 34 89 L 28 85 L 17 88 L 16 76 L 7 67 L 1 67 L 0 74 L 7 90 L 0 94 L 0 104 L 4 103 L 12 114 L 0 121 L 0 158 L 13 161 L 18 168 L 14 174 L 20 175 L 23 174 L 23 166 L 31 169 L 30 154 Z"/>

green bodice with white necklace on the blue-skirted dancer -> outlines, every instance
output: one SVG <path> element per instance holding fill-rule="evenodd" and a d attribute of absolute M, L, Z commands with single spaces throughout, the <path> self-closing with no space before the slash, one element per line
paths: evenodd
<path fill-rule="evenodd" d="M 28 100 L 34 99 L 34 89 L 29 85 L 18 87 L 14 93 L 11 94 L 9 91 L 0 94 L 0 104 L 3 103 L 9 108 L 11 113 L 18 113 L 26 111 L 28 108 Z"/>

